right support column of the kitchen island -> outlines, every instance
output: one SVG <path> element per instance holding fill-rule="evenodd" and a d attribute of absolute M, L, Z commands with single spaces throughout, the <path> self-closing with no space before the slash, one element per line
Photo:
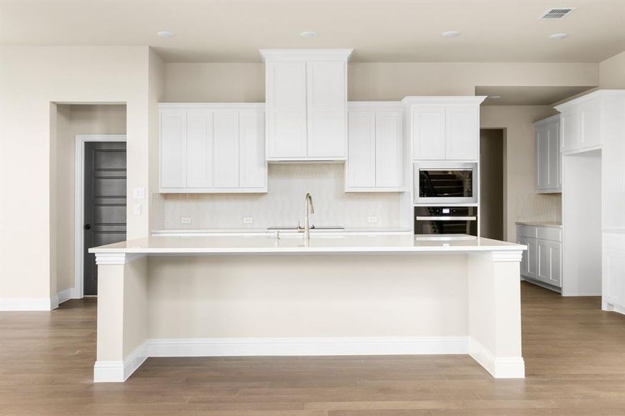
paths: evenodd
<path fill-rule="evenodd" d="M 469 354 L 497 379 L 525 376 L 521 251 L 468 254 Z"/>

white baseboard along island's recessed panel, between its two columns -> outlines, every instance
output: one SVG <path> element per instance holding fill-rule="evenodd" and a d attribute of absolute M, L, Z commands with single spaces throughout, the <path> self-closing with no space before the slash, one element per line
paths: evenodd
<path fill-rule="evenodd" d="M 150 357 L 468 354 L 468 337 L 191 338 L 148 340 Z"/>

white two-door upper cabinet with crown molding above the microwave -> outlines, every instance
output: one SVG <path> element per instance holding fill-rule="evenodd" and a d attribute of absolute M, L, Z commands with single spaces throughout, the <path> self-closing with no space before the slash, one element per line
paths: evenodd
<path fill-rule="evenodd" d="M 479 159 L 479 104 L 483 96 L 406 97 L 413 160 Z"/>

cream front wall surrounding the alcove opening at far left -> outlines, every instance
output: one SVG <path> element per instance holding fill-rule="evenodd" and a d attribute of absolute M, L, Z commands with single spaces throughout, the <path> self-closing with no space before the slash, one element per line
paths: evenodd
<path fill-rule="evenodd" d="M 147 187 L 147 73 L 143 46 L 1 48 L 1 298 L 44 300 L 57 291 L 51 103 L 126 103 L 128 189 Z M 128 216 L 129 238 L 148 234 L 147 200 L 143 203 L 141 216 Z"/>

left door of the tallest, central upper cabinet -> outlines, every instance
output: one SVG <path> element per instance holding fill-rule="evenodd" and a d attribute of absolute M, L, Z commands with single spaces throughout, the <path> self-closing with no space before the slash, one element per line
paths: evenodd
<path fill-rule="evenodd" d="M 306 157 L 306 62 L 267 62 L 268 157 Z"/>

